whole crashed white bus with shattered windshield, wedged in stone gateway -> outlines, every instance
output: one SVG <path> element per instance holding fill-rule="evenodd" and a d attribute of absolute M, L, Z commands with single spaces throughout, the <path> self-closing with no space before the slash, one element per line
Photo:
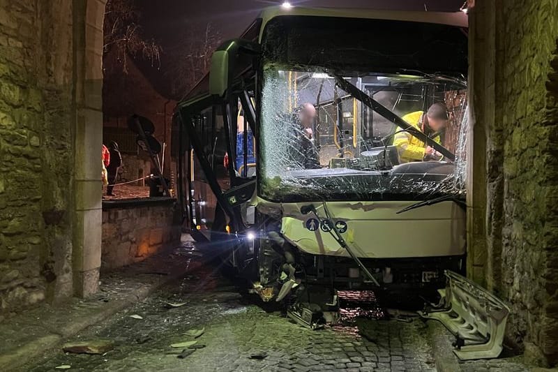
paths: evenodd
<path fill-rule="evenodd" d="M 268 8 L 175 117 L 193 236 L 299 320 L 465 273 L 464 13 Z"/>

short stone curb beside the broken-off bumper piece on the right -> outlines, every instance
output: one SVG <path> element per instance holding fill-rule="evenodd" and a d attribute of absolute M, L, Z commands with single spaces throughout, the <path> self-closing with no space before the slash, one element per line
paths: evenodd
<path fill-rule="evenodd" d="M 428 339 L 432 346 L 432 355 L 436 363 L 436 369 L 440 372 L 460 372 L 461 367 L 458 358 L 453 354 L 451 346 L 451 335 L 437 320 L 427 320 Z"/>

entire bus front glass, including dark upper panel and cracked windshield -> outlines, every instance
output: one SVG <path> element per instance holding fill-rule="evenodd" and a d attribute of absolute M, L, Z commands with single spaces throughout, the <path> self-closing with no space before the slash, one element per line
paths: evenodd
<path fill-rule="evenodd" d="M 465 31 L 293 16 L 271 20 L 262 40 L 259 195 L 464 197 Z"/>

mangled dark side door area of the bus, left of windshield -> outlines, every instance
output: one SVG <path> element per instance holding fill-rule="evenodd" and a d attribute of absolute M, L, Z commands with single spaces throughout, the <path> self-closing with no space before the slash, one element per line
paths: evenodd
<path fill-rule="evenodd" d="M 241 204 L 255 191 L 253 101 L 204 100 L 181 110 L 188 133 L 186 158 L 191 228 L 206 239 L 223 238 L 246 228 Z M 247 103 L 250 106 L 245 108 Z"/>

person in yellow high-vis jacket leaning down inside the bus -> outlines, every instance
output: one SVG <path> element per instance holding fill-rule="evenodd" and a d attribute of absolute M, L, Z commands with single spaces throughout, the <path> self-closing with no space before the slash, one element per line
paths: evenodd
<path fill-rule="evenodd" d="M 401 119 L 407 121 L 407 123 L 425 135 L 428 135 L 432 140 L 441 143 L 440 133 L 448 125 L 448 109 L 443 103 L 435 103 L 430 106 L 426 113 L 415 111 L 406 114 Z M 444 158 L 442 154 L 428 146 L 425 142 L 419 140 L 411 133 L 401 131 L 399 128 L 393 137 L 393 145 L 398 150 L 401 163 L 430 160 L 441 161 Z"/>

